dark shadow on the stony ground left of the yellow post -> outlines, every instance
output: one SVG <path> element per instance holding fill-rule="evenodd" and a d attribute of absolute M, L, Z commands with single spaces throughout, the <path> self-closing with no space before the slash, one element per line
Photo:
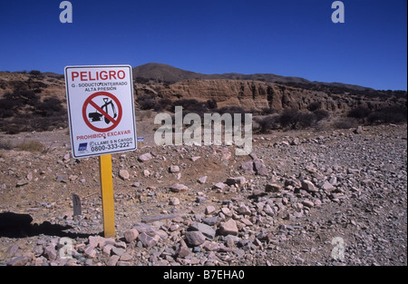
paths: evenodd
<path fill-rule="evenodd" d="M 49 221 L 44 221 L 41 224 L 31 222 L 33 217 L 30 214 L 20 214 L 14 212 L 0 213 L 0 237 L 7 238 L 25 238 L 33 237 L 41 234 L 56 237 L 67 238 L 88 238 L 89 236 L 102 235 L 98 234 L 84 234 L 73 233 L 65 230 L 73 229 L 71 226 L 63 226 L 59 224 L 52 224 Z"/>

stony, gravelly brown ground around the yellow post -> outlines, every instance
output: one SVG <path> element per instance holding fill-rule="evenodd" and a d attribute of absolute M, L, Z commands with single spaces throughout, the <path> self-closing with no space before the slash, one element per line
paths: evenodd
<path fill-rule="evenodd" d="M 102 238 L 98 158 L 73 159 L 66 130 L 0 134 L 0 265 L 406 266 L 406 136 L 273 132 L 236 156 L 146 135 L 112 155 L 116 237 Z"/>

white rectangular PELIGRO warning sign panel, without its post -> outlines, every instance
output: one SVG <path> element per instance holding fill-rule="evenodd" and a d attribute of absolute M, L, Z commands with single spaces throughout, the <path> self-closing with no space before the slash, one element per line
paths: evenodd
<path fill-rule="evenodd" d="M 74 158 L 137 148 L 130 65 L 65 67 Z"/>

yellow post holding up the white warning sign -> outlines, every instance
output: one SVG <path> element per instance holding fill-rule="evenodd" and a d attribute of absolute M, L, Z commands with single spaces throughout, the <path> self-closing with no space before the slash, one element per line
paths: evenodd
<path fill-rule="evenodd" d="M 112 156 L 99 156 L 101 169 L 103 234 L 105 238 L 115 237 L 115 210 L 113 206 Z"/>

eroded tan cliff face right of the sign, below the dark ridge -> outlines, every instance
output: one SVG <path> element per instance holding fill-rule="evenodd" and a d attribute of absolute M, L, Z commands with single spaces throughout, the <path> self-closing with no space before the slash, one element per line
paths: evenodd
<path fill-rule="evenodd" d="M 146 90 L 141 87 L 136 89 L 138 94 L 144 94 Z M 207 101 L 215 99 L 219 107 L 240 106 L 248 111 L 263 108 L 273 108 L 277 111 L 293 108 L 302 111 L 306 110 L 310 103 L 320 103 L 321 109 L 329 112 L 347 112 L 356 106 L 366 106 L 375 110 L 379 107 L 401 103 L 384 98 L 368 98 L 358 94 L 332 94 L 250 80 L 187 80 L 157 86 L 154 89 L 155 93 L 170 100 Z M 151 91 L 146 93 L 151 94 Z"/>

